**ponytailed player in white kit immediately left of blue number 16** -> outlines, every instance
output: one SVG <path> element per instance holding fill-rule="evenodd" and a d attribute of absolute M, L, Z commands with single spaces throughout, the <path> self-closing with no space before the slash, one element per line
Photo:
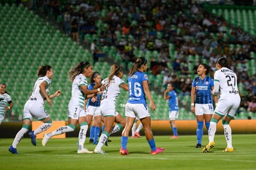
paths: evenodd
<path fill-rule="evenodd" d="M 110 134 L 118 132 L 126 125 L 124 118 L 121 114 L 117 114 L 116 111 L 116 99 L 120 94 L 121 88 L 128 91 L 128 85 L 122 80 L 122 69 L 121 67 L 113 64 L 111 66 L 111 74 L 108 78 L 102 81 L 106 84 L 106 90 L 103 91 L 101 96 L 100 111 L 103 116 L 105 128 L 100 135 L 98 145 L 95 147 L 95 153 L 104 154 L 105 151 L 101 150 L 104 143 L 108 140 Z M 116 125 L 114 122 L 119 122 Z"/>

